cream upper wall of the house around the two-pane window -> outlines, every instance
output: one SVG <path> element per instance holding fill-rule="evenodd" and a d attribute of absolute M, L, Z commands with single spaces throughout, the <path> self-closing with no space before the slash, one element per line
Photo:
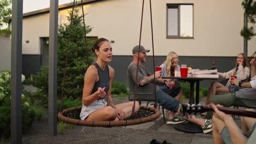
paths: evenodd
<path fill-rule="evenodd" d="M 166 38 L 166 4 L 194 4 L 194 38 Z M 243 52 L 242 0 L 158 0 L 152 1 L 156 56 L 175 51 L 180 56 L 237 56 Z M 142 1 L 108 0 L 84 5 L 86 25 L 94 27 L 88 36 L 114 40 L 114 55 L 132 55 L 139 43 Z M 80 10 L 82 14 L 82 10 Z M 59 11 L 59 24 L 67 22 L 67 10 Z M 255 26 L 256 29 L 256 26 Z M 40 54 L 40 37 L 49 37 L 49 13 L 26 17 L 23 21 L 22 53 Z M 29 40 L 29 43 L 25 41 Z M 142 42 L 152 55 L 149 1 L 144 3 Z M 256 38 L 248 41 L 248 55 L 256 49 Z"/>

